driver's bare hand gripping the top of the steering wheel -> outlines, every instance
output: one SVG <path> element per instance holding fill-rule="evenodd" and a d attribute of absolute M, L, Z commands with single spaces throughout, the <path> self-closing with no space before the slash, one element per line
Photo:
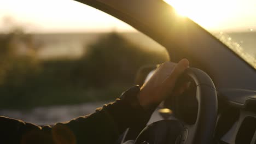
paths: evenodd
<path fill-rule="evenodd" d="M 148 110 L 150 106 L 158 105 L 172 93 L 182 93 L 188 87 L 188 83 L 176 89 L 175 92 L 173 92 L 173 88 L 178 77 L 188 67 L 187 59 L 182 59 L 178 64 L 165 62 L 159 65 L 152 77 L 141 87 L 141 92 L 138 95 L 139 104 Z"/>

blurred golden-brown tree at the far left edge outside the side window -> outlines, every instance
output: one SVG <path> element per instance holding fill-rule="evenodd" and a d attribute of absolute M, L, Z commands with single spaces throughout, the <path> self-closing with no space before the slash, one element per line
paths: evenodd
<path fill-rule="evenodd" d="M 21 85 L 38 70 L 39 60 L 32 35 L 16 29 L 0 36 L 0 85 Z"/>

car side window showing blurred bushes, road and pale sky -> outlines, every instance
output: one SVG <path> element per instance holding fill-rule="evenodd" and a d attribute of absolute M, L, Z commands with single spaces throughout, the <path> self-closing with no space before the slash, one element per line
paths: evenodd
<path fill-rule="evenodd" d="M 36 124 L 84 116 L 135 85 L 164 47 L 74 1 L 0 2 L 0 115 Z"/>

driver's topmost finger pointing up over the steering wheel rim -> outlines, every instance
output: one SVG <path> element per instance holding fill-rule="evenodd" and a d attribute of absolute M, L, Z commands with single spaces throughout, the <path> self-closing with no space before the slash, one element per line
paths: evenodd
<path fill-rule="evenodd" d="M 185 69 L 189 67 L 188 59 L 182 59 L 179 63 L 174 67 L 170 76 L 168 76 L 163 82 L 163 87 L 173 87 L 176 83 L 178 77 L 183 73 Z"/>

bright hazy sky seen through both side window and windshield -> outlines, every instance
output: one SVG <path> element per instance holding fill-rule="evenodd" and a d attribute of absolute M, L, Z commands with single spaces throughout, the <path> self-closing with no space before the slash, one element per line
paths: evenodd
<path fill-rule="evenodd" d="M 256 29 L 255 0 L 165 1 L 181 17 L 187 16 L 210 31 Z M 0 0 L 0 32 L 13 26 L 36 33 L 135 31 L 102 11 L 72 0 Z"/>

